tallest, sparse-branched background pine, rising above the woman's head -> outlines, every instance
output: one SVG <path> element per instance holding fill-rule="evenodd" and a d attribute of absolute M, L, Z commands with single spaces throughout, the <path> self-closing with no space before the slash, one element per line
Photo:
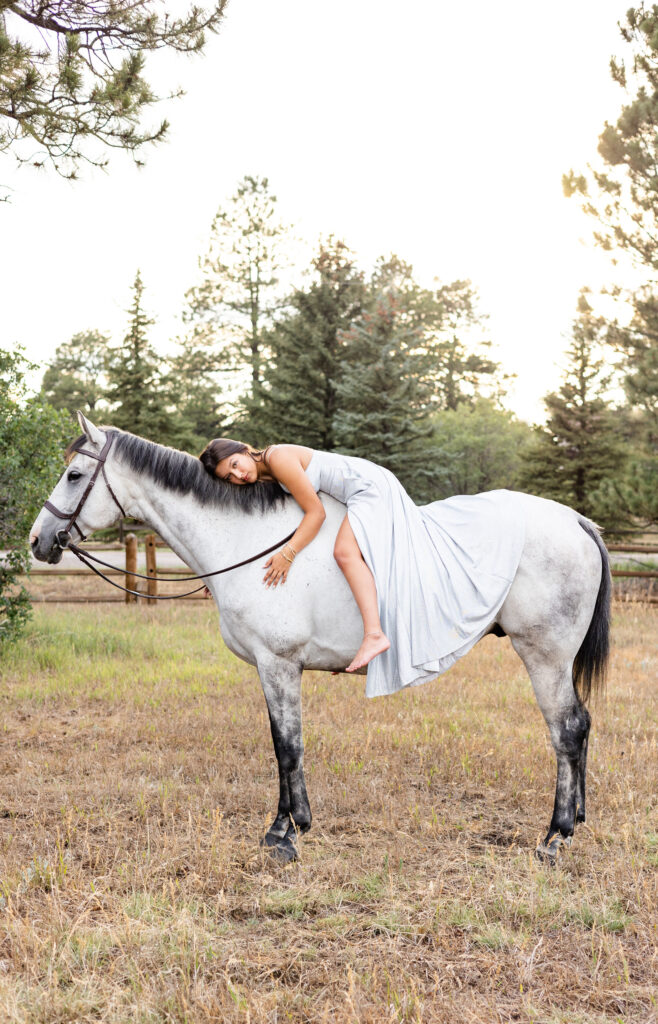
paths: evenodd
<path fill-rule="evenodd" d="M 184 321 L 195 347 L 214 355 L 214 369 L 249 374 L 252 398 L 262 380 L 265 329 L 278 306 L 286 228 L 267 178 L 247 175 L 213 220 L 200 261 L 204 279 L 187 293 Z"/>

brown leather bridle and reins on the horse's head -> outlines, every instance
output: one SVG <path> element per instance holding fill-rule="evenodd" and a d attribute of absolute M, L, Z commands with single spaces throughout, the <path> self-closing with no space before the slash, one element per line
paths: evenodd
<path fill-rule="evenodd" d="M 83 552 L 82 549 L 79 548 L 77 544 L 74 544 L 73 539 L 71 537 L 71 529 L 74 527 L 75 529 L 78 530 L 80 540 L 81 541 L 85 540 L 85 535 L 80 529 L 80 526 L 78 525 L 76 520 L 78 519 L 78 516 L 82 512 L 84 504 L 87 501 L 89 495 L 91 494 L 93 485 L 98 479 L 98 475 L 100 473 L 102 473 L 102 478 L 105 481 L 105 485 L 107 487 L 107 490 L 109 492 L 109 495 L 115 505 L 121 512 L 124 519 L 127 518 L 126 513 L 121 505 L 121 502 L 119 501 L 116 494 L 112 489 L 109 480 L 107 479 L 107 475 L 105 473 L 105 461 L 109 454 L 109 450 L 112 447 L 115 437 L 116 434 L 114 433 L 107 434 L 107 439 L 102 446 L 100 455 L 96 455 L 95 452 L 88 452 L 87 449 L 78 449 L 76 451 L 75 453 L 76 455 L 86 455 L 89 456 L 90 459 L 95 459 L 97 465 L 74 512 L 62 512 L 60 509 L 55 508 L 52 502 L 49 501 L 43 503 L 43 507 L 47 509 L 48 512 L 52 512 L 52 514 L 57 516 L 58 519 L 69 520 L 64 528 L 58 530 L 57 534 L 55 535 L 55 543 L 57 547 L 61 551 L 65 551 L 67 549 L 69 551 L 72 551 L 76 556 L 76 558 L 83 563 L 83 565 L 86 565 L 87 568 L 91 569 L 92 572 L 95 572 L 96 575 L 100 577 L 101 580 L 104 580 L 105 583 L 108 583 L 111 587 L 116 587 L 117 590 L 123 590 L 125 594 L 134 594 L 136 597 L 148 597 L 148 600 L 150 601 L 175 601 L 179 597 L 188 597 L 190 594 L 198 594 L 200 590 L 204 590 L 204 587 L 195 587 L 194 590 L 185 591 L 184 594 L 168 594 L 168 595 L 159 595 L 159 594 L 146 595 L 142 594 L 138 590 L 130 590 L 128 587 L 122 587 L 121 584 L 115 583 L 114 580 L 111 580 L 107 575 L 105 575 L 104 572 L 102 572 L 100 569 L 97 569 L 91 563 L 96 562 L 98 565 L 104 565 L 106 568 L 111 569 L 116 568 L 117 567 L 116 565 L 113 565 L 112 562 L 104 562 L 101 558 L 96 558 L 95 555 L 90 554 L 88 551 Z M 210 577 L 221 575 L 222 572 L 230 572 L 231 569 L 237 569 L 242 565 L 248 565 L 250 562 L 255 562 L 258 558 L 262 558 L 263 555 L 269 555 L 271 551 L 275 551 L 276 548 L 279 548 L 282 544 L 287 544 L 288 541 L 290 541 L 294 537 L 295 532 L 296 531 L 293 530 L 293 532 L 289 534 L 288 537 L 284 537 L 282 541 L 278 541 L 277 544 L 273 544 L 270 548 L 266 548 L 265 551 L 259 551 L 258 554 L 252 555 L 250 558 L 245 558 L 243 559 L 242 562 L 235 562 L 233 565 L 227 565 L 223 569 L 215 569 L 214 572 L 202 572 L 199 575 L 180 577 L 177 580 L 172 580 L 171 578 L 164 579 L 163 577 L 157 577 L 157 575 L 144 575 L 142 572 L 127 572 L 126 575 L 138 577 L 140 580 L 157 580 L 159 583 L 191 583 L 192 580 L 208 580 Z"/>

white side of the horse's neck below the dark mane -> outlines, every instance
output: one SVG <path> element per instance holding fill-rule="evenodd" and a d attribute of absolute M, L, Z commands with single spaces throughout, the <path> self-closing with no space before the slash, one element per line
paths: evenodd
<path fill-rule="evenodd" d="M 131 490 L 137 517 L 196 572 L 248 557 L 271 531 L 260 515 L 202 505 L 193 495 L 175 494 L 148 478 L 135 477 Z"/>

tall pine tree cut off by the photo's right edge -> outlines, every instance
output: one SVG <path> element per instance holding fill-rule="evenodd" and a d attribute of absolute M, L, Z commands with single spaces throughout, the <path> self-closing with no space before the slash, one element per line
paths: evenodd
<path fill-rule="evenodd" d="M 627 102 L 614 123 L 606 122 L 599 139 L 602 163 L 588 174 L 570 171 L 563 178 L 567 196 L 578 195 L 583 209 L 599 223 L 595 240 L 615 259 L 625 258 L 648 271 L 648 284 L 625 298 L 634 310 L 629 328 L 611 325 L 608 340 L 624 359 L 624 386 L 635 426 L 634 456 L 622 478 L 602 488 L 601 516 L 613 526 L 658 522 L 658 5 L 642 4 L 620 25 L 630 52 L 613 59 L 613 80 Z"/>

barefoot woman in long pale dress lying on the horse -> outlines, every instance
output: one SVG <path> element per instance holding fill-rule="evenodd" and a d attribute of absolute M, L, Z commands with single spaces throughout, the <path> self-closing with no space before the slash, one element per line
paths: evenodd
<path fill-rule="evenodd" d="M 290 545 L 266 563 L 267 586 L 286 583 L 322 525 L 317 492 L 347 506 L 334 553 L 363 617 L 363 642 L 347 671 L 367 665 L 367 696 L 434 679 L 495 621 L 525 539 L 513 492 L 419 507 L 392 473 L 366 459 L 301 444 L 260 451 L 226 438 L 211 441 L 201 459 L 227 483 L 278 480 L 304 511 Z"/>

